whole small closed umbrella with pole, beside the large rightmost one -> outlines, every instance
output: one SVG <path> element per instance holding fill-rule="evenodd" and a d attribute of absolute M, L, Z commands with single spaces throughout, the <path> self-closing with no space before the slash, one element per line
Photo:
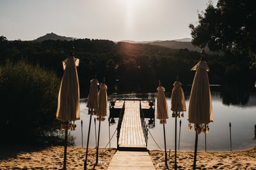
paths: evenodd
<path fill-rule="evenodd" d="M 172 97 L 171 97 L 171 110 L 173 111 L 172 117 L 175 117 L 175 169 L 177 169 L 177 117 L 184 117 L 183 111 L 186 111 L 186 103 L 182 84 L 177 76 L 177 81 L 173 83 Z"/>

